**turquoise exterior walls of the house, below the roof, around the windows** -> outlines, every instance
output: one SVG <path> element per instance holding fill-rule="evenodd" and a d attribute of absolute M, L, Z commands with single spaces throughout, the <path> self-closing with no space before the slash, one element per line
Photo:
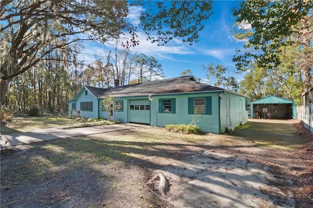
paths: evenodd
<path fill-rule="evenodd" d="M 99 117 L 109 119 L 108 112 L 102 111 L 102 99 L 97 99 L 89 91 L 85 95 L 86 89 L 83 88 L 80 93 L 74 98 L 73 101 L 69 101 L 69 108 L 71 108 L 71 103 L 76 103 L 76 109 L 80 109 L 80 102 L 93 102 L 93 111 L 92 112 L 82 112 L 82 117 Z M 115 101 L 123 101 L 123 111 L 115 111 L 113 113 L 112 120 L 119 121 L 122 123 L 129 123 L 132 121 L 130 118 L 130 102 L 145 104 L 149 106 L 150 112 L 149 117 L 144 117 L 145 119 L 142 122 L 138 123 L 148 123 L 151 126 L 165 127 L 168 124 L 190 124 L 193 117 L 193 102 L 192 105 L 190 101 L 192 98 L 205 98 L 206 106 L 209 106 L 208 109 L 205 109 L 206 114 L 201 114 L 197 125 L 201 128 L 203 132 L 211 133 L 223 133 L 226 131 L 227 124 L 227 107 L 226 99 L 229 98 L 229 115 L 230 122 L 232 126 L 236 127 L 240 125 L 240 117 L 242 116 L 242 121 L 247 122 L 248 113 L 246 111 L 247 102 L 249 98 L 233 94 L 227 91 L 219 92 L 206 92 L 206 93 L 190 93 L 190 94 L 173 94 L 173 95 L 152 95 L 152 100 L 148 100 L 149 96 L 136 96 L 136 97 L 116 97 Z M 160 100 L 171 99 L 172 102 L 175 102 L 171 113 L 160 112 Z M 240 110 L 240 100 L 242 100 L 242 106 Z M 190 106 L 192 108 L 190 108 Z M 174 113 L 175 112 L 175 113 Z M 138 111 L 140 113 L 140 111 Z M 147 110 L 144 111 L 147 113 Z M 139 116 L 140 117 L 140 116 Z M 135 121 L 137 122 L 137 121 Z"/>

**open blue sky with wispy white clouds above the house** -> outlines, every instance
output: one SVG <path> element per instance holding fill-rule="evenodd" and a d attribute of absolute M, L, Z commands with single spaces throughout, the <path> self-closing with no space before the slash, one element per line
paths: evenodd
<path fill-rule="evenodd" d="M 164 74 L 167 78 L 178 77 L 186 69 L 192 71 L 193 75 L 204 80 L 205 72 L 201 64 L 220 64 L 229 69 L 228 74 L 241 80 L 244 74 L 238 75 L 235 71 L 235 63 L 232 62 L 237 48 L 243 48 L 244 42 L 233 38 L 232 12 L 231 8 L 238 6 L 240 1 L 219 0 L 213 1 L 212 10 L 214 14 L 206 23 L 204 29 L 200 32 L 198 43 L 190 46 L 179 39 L 175 39 L 164 46 L 157 46 L 146 40 L 143 32 L 137 31 L 139 46 L 132 49 L 138 54 L 153 56 L 162 64 Z M 130 9 L 129 19 L 136 23 L 139 21 L 140 10 L 142 8 L 134 7 Z M 88 47 L 88 54 L 94 54 L 101 50 L 98 46 Z M 205 80 L 204 80 L 205 81 Z"/>

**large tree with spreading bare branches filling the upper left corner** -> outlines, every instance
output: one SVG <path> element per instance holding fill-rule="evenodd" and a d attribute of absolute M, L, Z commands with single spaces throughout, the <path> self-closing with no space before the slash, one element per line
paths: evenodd
<path fill-rule="evenodd" d="M 79 40 L 118 37 L 127 27 L 126 1 L 1 1 L 1 103 L 10 80 L 51 51 Z M 86 20 L 88 19 L 88 21 Z M 83 38 L 67 38 L 78 37 Z M 87 35 L 88 34 L 88 35 Z"/>

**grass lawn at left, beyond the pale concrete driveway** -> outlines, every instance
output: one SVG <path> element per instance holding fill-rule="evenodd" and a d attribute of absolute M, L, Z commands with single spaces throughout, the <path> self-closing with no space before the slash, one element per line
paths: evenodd
<path fill-rule="evenodd" d="M 12 122 L 1 125 L 0 133 L 6 135 L 18 132 L 29 132 L 36 129 L 70 126 L 78 123 L 82 123 L 82 121 L 65 118 L 61 115 L 17 116 L 13 118 Z"/>

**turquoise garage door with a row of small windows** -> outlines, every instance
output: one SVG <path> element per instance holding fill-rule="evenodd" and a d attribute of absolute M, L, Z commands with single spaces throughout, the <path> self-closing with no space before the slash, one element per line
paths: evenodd
<path fill-rule="evenodd" d="M 130 100 L 129 122 L 150 124 L 149 100 Z"/>

